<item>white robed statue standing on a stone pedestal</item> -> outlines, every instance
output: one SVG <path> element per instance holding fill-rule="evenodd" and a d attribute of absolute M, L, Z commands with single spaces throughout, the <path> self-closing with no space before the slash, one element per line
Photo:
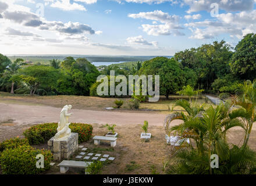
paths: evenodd
<path fill-rule="evenodd" d="M 61 116 L 59 117 L 59 123 L 57 128 L 57 133 L 55 134 L 55 140 L 66 140 L 71 135 L 71 130 L 69 128 L 69 117 L 73 113 L 67 113 L 68 110 L 72 108 L 72 105 L 65 105 L 61 110 Z"/>

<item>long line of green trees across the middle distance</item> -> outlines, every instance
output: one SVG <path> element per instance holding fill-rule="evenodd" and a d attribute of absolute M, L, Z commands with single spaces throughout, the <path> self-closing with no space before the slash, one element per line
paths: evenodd
<path fill-rule="evenodd" d="M 254 80 L 255 58 L 256 34 L 247 34 L 235 48 L 223 40 L 214 41 L 176 52 L 171 59 L 157 57 L 125 68 L 110 65 L 101 71 L 86 58 L 70 56 L 62 62 L 53 59 L 49 65 L 27 65 L 23 59 L 11 62 L 0 54 L 0 90 L 31 95 L 90 95 L 97 88 L 97 77 L 115 70 L 116 76 L 159 75 L 160 93 L 166 98 L 185 85 L 205 92 L 234 93 L 237 84 Z"/>

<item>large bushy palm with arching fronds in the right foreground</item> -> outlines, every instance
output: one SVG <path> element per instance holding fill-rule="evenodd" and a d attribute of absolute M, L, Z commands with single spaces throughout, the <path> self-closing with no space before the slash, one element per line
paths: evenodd
<path fill-rule="evenodd" d="M 216 108 L 210 106 L 206 110 L 199 106 L 193 107 L 186 100 L 177 101 L 175 105 L 182 106 L 186 110 L 187 115 L 183 112 L 170 115 L 173 116 L 169 117 L 172 118 L 171 120 L 181 119 L 184 122 L 179 126 L 166 127 L 166 129 L 170 132 L 177 131 L 183 138 L 192 139 L 195 142 L 195 148 L 190 143 L 190 150 L 178 150 L 177 153 L 175 152 L 172 155 L 173 158 L 170 158 L 170 162 L 177 161 L 176 163 L 181 163 L 179 166 L 186 166 L 186 164 L 182 165 L 182 160 L 176 159 L 177 157 L 183 157 L 184 161 L 190 161 L 191 166 L 193 164 L 191 161 L 198 163 L 198 166 L 194 167 L 195 170 L 203 170 L 202 173 L 208 170 L 208 173 L 212 174 L 211 155 L 216 153 L 225 158 L 227 156 L 227 149 L 229 149 L 226 142 L 226 131 L 236 126 L 244 127 L 243 123 L 237 119 L 236 113 L 230 112 L 230 103 L 218 105 Z M 170 167 L 170 172 L 177 169 L 177 167 L 170 165 L 168 167 Z M 196 172 L 201 173 L 200 171 Z"/>

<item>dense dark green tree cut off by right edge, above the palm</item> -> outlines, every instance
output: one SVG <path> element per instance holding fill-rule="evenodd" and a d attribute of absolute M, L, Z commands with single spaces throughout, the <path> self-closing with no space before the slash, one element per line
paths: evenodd
<path fill-rule="evenodd" d="M 253 80 L 256 74 L 256 34 L 247 34 L 234 48 L 230 62 L 233 74 L 243 80 Z"/>

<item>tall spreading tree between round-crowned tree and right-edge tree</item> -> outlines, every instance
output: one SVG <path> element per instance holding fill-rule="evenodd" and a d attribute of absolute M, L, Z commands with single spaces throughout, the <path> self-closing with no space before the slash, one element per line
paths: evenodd
<path fill-rule="evenodd" d="M 213 44 L 177 52 L 175 59 L 194 70 L 198 77 L 197 86 L 209 91 L 216 78 L 230 73 L 229 61 L 233 54 L 230 49 L 225 41 L 214 41 Z"/>

